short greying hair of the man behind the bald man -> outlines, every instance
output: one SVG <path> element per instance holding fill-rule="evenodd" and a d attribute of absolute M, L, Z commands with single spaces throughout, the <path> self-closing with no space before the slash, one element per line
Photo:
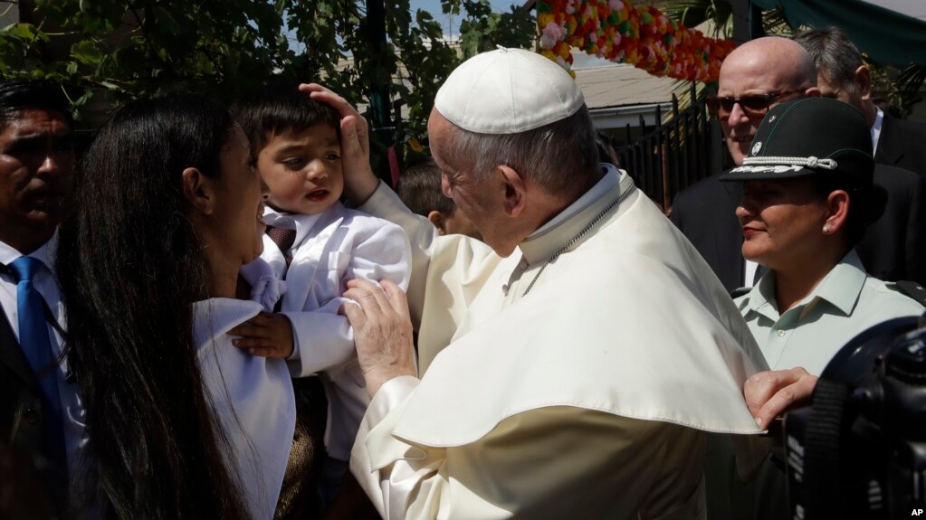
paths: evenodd
<path fill-rule="evenodd" d="M 865 62 L 845 32 L 835 27 L 808 29 L 796 35 L 794 40 L 807 49 L 833 87 L 847 93 L 857 91 L 856 70 Z"/>

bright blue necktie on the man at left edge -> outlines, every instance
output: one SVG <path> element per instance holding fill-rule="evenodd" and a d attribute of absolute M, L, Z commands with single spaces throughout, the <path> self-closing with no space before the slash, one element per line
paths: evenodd
<path fill-rule="evenodd" d="M 61 401 L 58 399 L 57 391 L 57 364 L 48 336 L 48 324 L 45 322 L 44 300 L 32 283 L 32 278 L 41 267 L 42 261 L 30 256 L 21 256 L 10 264 L 18 280 L 16 292 L 19 309 L 19 347 L 26 354 L 32 372 L 42 386 L 46 454 L 61 469 L 67 469 Z"/>

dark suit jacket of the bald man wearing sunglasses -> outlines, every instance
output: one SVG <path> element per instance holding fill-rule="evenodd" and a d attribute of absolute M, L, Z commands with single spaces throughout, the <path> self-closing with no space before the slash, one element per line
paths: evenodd
<path fill-rule="evenodd" d="M 743 185 L 719 178 L 699 180 L 680 192 L 671 218 L 732 291 L 744 285 L 743 232 L 735 215 Z M 887 191 L 888 200 L 884 215 L 857 245 L 862 264 L 879 279 L 926 284 L 926 210 L 920 207 L 926 201 L 926 177 L 875 165 L 874 181 Z"/>

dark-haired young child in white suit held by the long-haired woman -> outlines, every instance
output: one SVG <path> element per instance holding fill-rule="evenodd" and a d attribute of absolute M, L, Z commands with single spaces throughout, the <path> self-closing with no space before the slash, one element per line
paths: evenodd
<path fill-rule="evenodd" d="M 353 331 L 338 314 L 349 302 L 342 296 L 344 282 L 389 279 L 405 290 L 411 253 L 398 226 L 339 202 L 340 118 L 332 107 L 295 87 L 269 88 L 237 105 L 235 115 L 269 186 L 264 253 L 242 269 L 254 288 L 252 299 L 268 313 L 230 333 L 242 337 L 234 344 L 255 355 L 287 358 L 294 377 L 320 373 L 329 402 L 329 460 L 320 490 L 330 504 L 369 404 Z M 278 234 L 282 239 L 270 238 Z M 281 296 L 279 312 L 269 314 Z"/>

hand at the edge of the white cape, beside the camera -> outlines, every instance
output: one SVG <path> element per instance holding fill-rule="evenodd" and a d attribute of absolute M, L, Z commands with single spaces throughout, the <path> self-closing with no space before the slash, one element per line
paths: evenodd
<path fill-rule="evenodd" d="M 806 403 L 817 379 L 800 366 L 759 372 L 746 379 L 743 395 L 758 427 L 769 429 L 775 417 Z"/>

